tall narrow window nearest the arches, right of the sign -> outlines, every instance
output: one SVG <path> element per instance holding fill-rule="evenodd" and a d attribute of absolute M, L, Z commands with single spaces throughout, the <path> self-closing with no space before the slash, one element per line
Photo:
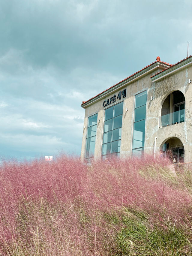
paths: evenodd
<path fill-rule="evenodd" d="M 145 142 L 147 91 L 135 95 L 132 155 L 141 156 Z"/>

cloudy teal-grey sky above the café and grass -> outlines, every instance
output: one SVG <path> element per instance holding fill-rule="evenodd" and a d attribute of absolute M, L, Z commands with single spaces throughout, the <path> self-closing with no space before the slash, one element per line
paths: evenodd
<path fill-rule="evenodd" d="M 80 154 L 88 100 L 192 55 L 191 0 L 0 0 L 0 156 Z"/>

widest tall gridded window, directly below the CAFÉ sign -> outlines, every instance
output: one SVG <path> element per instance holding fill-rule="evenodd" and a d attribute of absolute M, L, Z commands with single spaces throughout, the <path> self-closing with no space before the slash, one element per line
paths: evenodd
<path fill-rule="evenodd" d="M 103 158 L 109 154 L 119 155 L 121 146 L 121 130 L 123 101 L 105 110 L 102 152 Z"/>

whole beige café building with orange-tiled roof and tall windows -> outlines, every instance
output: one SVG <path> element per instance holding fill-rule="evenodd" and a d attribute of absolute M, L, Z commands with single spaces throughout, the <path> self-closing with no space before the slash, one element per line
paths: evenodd
<path fill-rule="evenodd" d="M 192 56 L 156 61 L 82 102 L 81 159 L 159 154 L 192 161 Z"/>

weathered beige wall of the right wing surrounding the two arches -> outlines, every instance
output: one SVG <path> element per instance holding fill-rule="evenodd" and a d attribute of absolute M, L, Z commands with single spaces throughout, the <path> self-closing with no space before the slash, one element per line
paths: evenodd
<path fill-rule="evenodd" d="M 145 152 L 154 152 L 155 137 L 156 154 L 169 138 L 179 138 L 182 143 L 177 147 L 184 146 L 185 162 L 192 161 L 192 83 L 188 79 L 192 77 L 192 67 L 184 68 L 164 80 L 161 79 L 152 83 L 151 91 L 153 100 L 148 101 L 146 118 Z M 185 122 L 159 128 L 159 117 L 161 117 L 161 107 L 167 96 L 179 90 L 185 97 Z M 173 111 L 173 110 L 172 110 Z M 171 112 L 172 112 L 171 111 Z M 174 145 L 172 145 L 174 147 Z"/>

